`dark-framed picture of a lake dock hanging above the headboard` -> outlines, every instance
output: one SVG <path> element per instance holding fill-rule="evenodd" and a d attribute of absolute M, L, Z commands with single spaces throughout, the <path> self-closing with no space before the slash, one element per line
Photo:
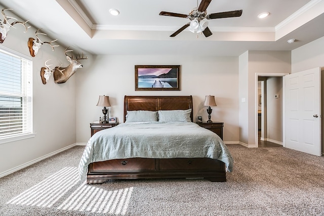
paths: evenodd
<path fill-rule="evenodd" d="M 135 65 L 135 91 L 180 90 L 180 65 Z"/>

